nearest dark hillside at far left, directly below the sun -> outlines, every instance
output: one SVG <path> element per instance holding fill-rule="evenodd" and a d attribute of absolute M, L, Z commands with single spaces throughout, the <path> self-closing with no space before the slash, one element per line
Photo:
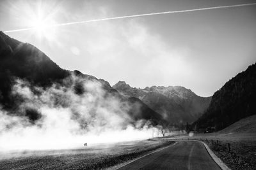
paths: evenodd
<path fill-rule="evenodd" d="M 69 75 L 33 45 L 22 43 L 0 32 L 0 103 L 10 108 L 13 78 L 47 87 Z"/>

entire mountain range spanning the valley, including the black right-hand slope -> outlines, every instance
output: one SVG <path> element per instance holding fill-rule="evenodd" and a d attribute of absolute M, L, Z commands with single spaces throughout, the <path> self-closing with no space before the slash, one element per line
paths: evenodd
<path fill-rule="evenodd" d="M 76 77 L 76 81 L 72 80 L 72 76 Z M 215 127 L 219 131 L 256 113 L 256 63 L 227 81 L 212 97 L 197 96 L 180 86 L 140 89 L 118 81 L 111 87 L 108 81 L 95 76 L 61 69 L 35 46 L 0 32 L 0 108 L 8 114 L 27 117 L 33 123 L 42 116 L 35 109 L 19 109 L 26 99 L 13 94 L 17 79 L 28 81 L 34 95 L 40 94 L 36 87 L 47 90 L 55 85 L 57 88 L 72 89 L 74 94 L 81 96 L 87 92 L 81 82 L 97 82 L 104 90 L 106 100 L 111 96 L 121 105 L 129 106 L 128 110 L 120 106 L 120 110 L 131 117 L 129 123 L 134 125 L 138 120 L 143 120 L 144 124 L 149 121 L 152 125 L 188 122 L 193 123 L 195 129 Z M 74 81 L 74 85 L 70 85 L 70 81 Z"/>

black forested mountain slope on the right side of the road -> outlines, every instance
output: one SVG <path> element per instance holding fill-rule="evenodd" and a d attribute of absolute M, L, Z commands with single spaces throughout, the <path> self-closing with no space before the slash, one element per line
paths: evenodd
<path fill-rule="evenodd" d="M 196 128 L 215 127 L 216 131 L 256 113 L 256 63 L 227 81 L 212 96 Z"/>

